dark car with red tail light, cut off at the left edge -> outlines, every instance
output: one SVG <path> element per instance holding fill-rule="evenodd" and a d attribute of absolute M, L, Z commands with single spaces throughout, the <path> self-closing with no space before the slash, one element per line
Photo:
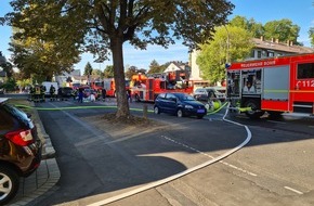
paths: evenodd
<path fill-rule="evenodd" d="M 19 177 L 30 176 L 40 165 L 42 143 L 29 115 L 0 98 L 0 205 L 19 188 Z"/>

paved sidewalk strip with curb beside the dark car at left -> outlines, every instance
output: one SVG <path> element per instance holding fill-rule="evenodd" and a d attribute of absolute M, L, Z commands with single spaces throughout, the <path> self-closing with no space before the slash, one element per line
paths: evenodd
<path fill-rule="evenodd" d="M 55 151 L 51 144 L 50 137 L 44 131 L 37 111 L 35 111 L 32 118 L 38 129 L 39 138 L 43 142 L 42 155 L 44 158 L 44 156 L 54 154 Z M 18 193 L 9 205 L 27 205 L 35 198 L 44 195 L 49 190 L 51 190 L 58 181 L 60 177 L 61 173 L 55 158 L 42 159 L 39 168 L 31 176 L 21 178 Z M 45 195 L 48 195 L 48 193 Z"/>

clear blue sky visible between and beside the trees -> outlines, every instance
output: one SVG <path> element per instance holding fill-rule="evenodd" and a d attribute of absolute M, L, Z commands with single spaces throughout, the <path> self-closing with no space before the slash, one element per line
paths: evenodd
<path fill-rule="evenodd" d="M 12 9 L 10 0 L 1 0 L 0 16 L 10 12 Z M 299 42 L 310 47 L 309 29 L 314 26 L 314 0 L 231 0 L 235 4 L 232 18 L 234 15 L 241 15 L 247 18 L 254 18 L 256 22 L 265 24 L 270 21 L 289 18 L 293 24 L 301 27 L 299 33 Z M 11 36 L 11 28 L 0 26 L 0 51 L 10 59 L 11 53 L 8 51 Z M 123 47 L 125 67 L 136 66 L 139 68 L 148 68 L 151 62 L 156 60 L 159 64 L 170 61 L 188 61 L 188 49 L 181 43 L 170 46 L 163 49 L 158 46 L 149 46 L 146 50 L 135 50 L 133 47 L 126 44 Z M 83 70 L 86 64 L 90 62 L 93 68 L 103 69 L 106 65 L 112 65 L 112 61 L 104 63 L 94 63 L 93 56 L 83 54 L 79 64 L 75 68 Z"/>

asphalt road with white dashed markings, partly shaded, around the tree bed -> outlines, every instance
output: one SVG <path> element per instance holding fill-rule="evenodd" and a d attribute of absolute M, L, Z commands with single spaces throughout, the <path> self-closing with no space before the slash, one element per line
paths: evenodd
<path fill-rule="evenodd" d="M 101 102 L 83 105 L 103 105 Z M 45 102 L 40 107 L 77 106 Z M 147 104 L 152 108 L 152 104 Z M 143 104 L 132 103 L 142 108 Z M 122 197 L 153 182 L 182 173 L 226 154 L 248 139 L 239 125 L 222 120 L 223 111 L 205 119 L 149 114 L 159 129 L 104 132 L 83 117 L 114 108 L 42 111 L 56 151 L 61 180 L 49 197 L 31 205 L 313 205 L 313 119 L 243 116 L 244 147 L 191 173 Z M 142 115 L 141 112 L 134 112 Z M 109 128 L 108 128 L 109 129 Z M 115 199 L 115 202 L 110 202 Z"/>

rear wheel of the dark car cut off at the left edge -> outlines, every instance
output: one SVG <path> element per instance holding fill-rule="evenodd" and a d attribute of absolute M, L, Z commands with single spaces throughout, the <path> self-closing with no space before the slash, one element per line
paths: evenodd
<path fill-rule="evenodd" d="M 19 177 L 10 167 L 0 165 L 0 205 L 3 205 L 16 195 Z"/>

